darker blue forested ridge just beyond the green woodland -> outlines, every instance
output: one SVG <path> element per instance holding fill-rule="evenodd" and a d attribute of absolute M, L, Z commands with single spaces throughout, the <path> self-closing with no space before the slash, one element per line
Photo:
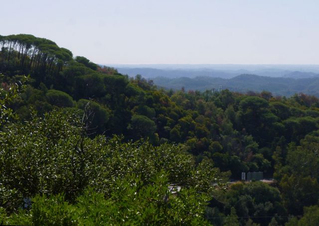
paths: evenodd
<path fill-rule="evenodd" d="M 182 87 L 185 90 L 218 90 L 221 85 L 222 89 L 243 93 L 266 90 L 280 96 L 291 96 L 299 92 L 319 96 L 319 77 L 295 79 L 241 74 L 230 79 L 198 76 L 195 78 L 155 77 L 152 80 L 159 87 L 174 90 L 181 89 Z"/>

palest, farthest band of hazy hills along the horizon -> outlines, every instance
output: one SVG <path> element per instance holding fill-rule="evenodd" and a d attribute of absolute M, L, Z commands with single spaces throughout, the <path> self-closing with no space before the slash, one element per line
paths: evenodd
<path fill-rule="evenodd" d="M 240 74 L 268 77 L 309 78 L 319 75 L 319 65 L 243 65 L 243 64 L 108 64 L 131 77 L 141 74 L 154 77 L 220 77 L 232 78 Z"/>

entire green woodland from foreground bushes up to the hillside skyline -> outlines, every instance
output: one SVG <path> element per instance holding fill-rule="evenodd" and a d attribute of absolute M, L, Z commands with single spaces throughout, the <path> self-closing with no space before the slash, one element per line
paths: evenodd
<path fill-rule="evenodd" d="M 1 224 L 318 225 L 317 97 L 165 91 L 28 34 L 0 49 Z M 274 183 L 227 185 L 257 171 Z"/>

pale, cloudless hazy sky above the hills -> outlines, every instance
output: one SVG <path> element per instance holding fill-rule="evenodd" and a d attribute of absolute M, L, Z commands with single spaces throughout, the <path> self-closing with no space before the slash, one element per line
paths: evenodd
<path fill-rule="evenodd" d="M 96 63 L 319 64 L 319 0 L 2 0 L 0 34 Z"/>

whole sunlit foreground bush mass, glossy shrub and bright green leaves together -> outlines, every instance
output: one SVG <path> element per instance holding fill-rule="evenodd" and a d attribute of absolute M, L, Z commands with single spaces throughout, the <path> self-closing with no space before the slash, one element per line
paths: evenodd
<path fill-rule="evenodd" d="M 195 167 L 178 145 L 90 139 L 85 119 L 53 111 L 0 132 L 3 224 L 206 224 L 210 164 Z"/>

